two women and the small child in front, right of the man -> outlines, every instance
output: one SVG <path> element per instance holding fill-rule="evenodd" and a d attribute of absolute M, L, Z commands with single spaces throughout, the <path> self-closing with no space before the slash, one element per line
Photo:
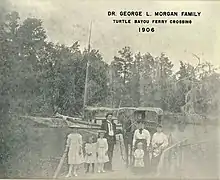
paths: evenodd
<path fill-rule="evenodd" d="M 163 133 L 162 125 L 152 138 L 143 121 L 138 121 L 138 128 L 133 136 L 134 170 L 136 172 L 157 172 L 157 166 L 163 150 L 168 146 L 168 137 Z M 150 158 L 151 155 L 151 158 Z"/>

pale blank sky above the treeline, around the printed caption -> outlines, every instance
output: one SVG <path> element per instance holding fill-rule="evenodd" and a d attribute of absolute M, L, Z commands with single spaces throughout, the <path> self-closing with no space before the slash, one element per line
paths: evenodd
<path fill-rule="evenodd" d="M 23 19 L 30 16 L 42 19 L 50 40 L 64 44 L 79 40 L 82 47 L 87 46 L 92 20 L 91 43 L 106 62 L 113 60 L 118 49 L 131 46 L 134 52 L 150 52 L 154 56 L 165 52 L 175 67 L 180 60 L 196 64 L 192 53 L 202 61 L 220 65 L 217 50 L 220 47 L 217 23 L 220 3 L 217 1 L 11 0 L 11 7 Z M 191 18 L 192 25 L 154 25 L 156 32 L 146 34 L 138 33 L 137 25 L 113 24 L 113 18 L 107 16 L 108 10 L 201 11 L 202 14 Z"/>

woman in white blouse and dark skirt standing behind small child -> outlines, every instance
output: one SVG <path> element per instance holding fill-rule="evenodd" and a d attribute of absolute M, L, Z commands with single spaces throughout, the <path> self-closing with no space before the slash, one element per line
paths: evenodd
<path fill-rule="evenodd" d="M 144 129 L 144 122 L 143 120 L 138 120 L 138 129 L 135 130 L 133 136 L 133 150 L 135 151 L 137 148 L 137 143 L 143 143 L 143 150 L 144 150 L 144 165 L 146 172 L 150 170 L 149 167 L 149 146 L 151 141 L 151 135 L 147 129 Z M 149 167 L 149 168 L 148 168 Z M 146 169 L 147 168 L 147 169 Z"/>

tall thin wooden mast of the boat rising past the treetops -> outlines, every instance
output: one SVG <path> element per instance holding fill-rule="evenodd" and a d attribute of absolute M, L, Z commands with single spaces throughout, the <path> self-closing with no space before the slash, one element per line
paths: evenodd
<path fill-rule="evenodd" d="M 84 89 L 84 101 L 83 101 L 83 119 L 85 117 L 85 108 L 86 108 L 86 101 L 87 101 L 87 92 L 88 92 L 88 76 L 89 76 L 89 56 L 90 56 L 90 41 L 91 41 L 91 34 L 92 34 L 92 21 L 90 23 L 90 30 L 89 30 L 89 43 L 88 43 L 88 54 L 87 54 L 87 64 L 86 64 L 86 80 L 85 80 L 85 89 Z"/>

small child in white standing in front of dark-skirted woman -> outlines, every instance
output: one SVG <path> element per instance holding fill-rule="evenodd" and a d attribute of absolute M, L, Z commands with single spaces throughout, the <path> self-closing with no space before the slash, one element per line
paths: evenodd
<path fill-rule="evenodd" d="M 134 151 L 134 168 L 136 173 L 141 173 L 144 168 L 144 150 L 143 144 L 139 142 Z"/>

